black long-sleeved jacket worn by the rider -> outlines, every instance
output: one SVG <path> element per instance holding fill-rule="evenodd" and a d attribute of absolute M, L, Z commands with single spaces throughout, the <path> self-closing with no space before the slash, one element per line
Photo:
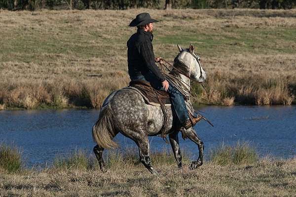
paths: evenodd
<path fill-rule="evenodd" d="M 138 29 L 127 41 L 127 62 L 130 76 L 144 75 L 150 70 L 158 80 L 163 82 L 165 77 L 155 65 L 153 34 Z"/>

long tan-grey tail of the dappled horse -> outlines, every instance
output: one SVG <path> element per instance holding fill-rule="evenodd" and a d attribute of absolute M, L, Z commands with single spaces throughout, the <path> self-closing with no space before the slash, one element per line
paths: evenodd
<path fill-rule="evenodd" d="M 92 136 L 102 148 L 110 149 L 118 147 L 117 143 L 112 141 L 115 133 L 110 103 L 101 109 L 99 120 L 93 126 Z"/>

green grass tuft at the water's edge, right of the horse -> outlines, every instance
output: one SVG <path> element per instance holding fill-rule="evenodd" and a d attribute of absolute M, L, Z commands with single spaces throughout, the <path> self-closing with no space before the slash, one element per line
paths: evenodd
<path fill-rule="evenodd" d="M 217 149 L 210 151 L 210 161 L 220 165 L 254 164 L 258 159 L 255 148 L 247 142 L 237 142 L 234 147 L 222 143 Z"/>

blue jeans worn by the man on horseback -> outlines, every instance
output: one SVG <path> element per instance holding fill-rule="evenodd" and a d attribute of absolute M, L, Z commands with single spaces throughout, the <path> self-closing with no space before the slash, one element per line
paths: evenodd
<path fill-rule="evenodd" d="M 164 88 L 162 87 L 162 83 L 156 78 L 156 76 L 152 72 L 148 72 L 145 76 L 144 75 L 130 76 L 130 79 L 132 81 L 137 79 L 148 81 L 150 82 L 151 86 L 154 89 L 165 91 Z M 184 123 L 186 120 L 189 119 L 189 115 L 187 112 L 183 95 L 171 84 L 169 85 L 167 92 L 170 95 L 173 107 L 175 109 L 175 112 L 177 114 L 177 117 L 180 123 L 181 124 Z"/>

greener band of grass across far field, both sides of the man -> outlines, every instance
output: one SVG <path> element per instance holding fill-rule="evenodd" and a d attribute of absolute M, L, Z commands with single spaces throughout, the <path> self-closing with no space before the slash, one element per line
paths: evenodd
<path fill-rule="evenodd" d="M 36 30 L 16 29 L 4 34 L 7 40 L 0 41 L 1 56 L 0 61 L 6 62 L 12 58 L 23 62 L 52 61 L 47 57 L 44 59 L 42 53 L 48 54 L 75 54 L 80 58 L 100 57 L 111 55 L 106 53 L 104 44 L 109 50 L 116 47 L 125 47 L 130 35 L 130 30 L 126 26 L 120 26 L 123 31 L 107 32 L 114 35 L 112 39 L 104 38 L 101 32 L 90 30 L 88 33 L 73 31 L 72 28 L 56 27 L 55 31 L 42 32 Z M 218 32 L 204 30 L 192 31 L 191 29 L 166 30 L 170 33 L 167 36 L 163 32 L 155 32 L 155 47 L 160 44 L 176 44 L 189 46 L 196 44 L 198 53 L 202 55 L 221 55 L 222 53 L 254 52 L 254 48 L 259 48 L 261 54 L 294 53 L 295 49 L 289 46 L 294 39 L 295 28 L 277 28 L 273 30 L 250 29 L 250 28 L 224 28 Z M 21 33 L 22 32 L 22 33 Z M 56 33 L 58 32 L 58 33 Z M 101 43 L 100 46 L 93 43 Z M 262 47 L 271 46 L 271 47 Z M 112 49 L 113 48 L 113 49 Z M 26 53 L 24 53 L 26 51 Z M 212 53 L 215 52 L 215 53 Z M 18 55 L 16 55 L 18 54 Z"/>

